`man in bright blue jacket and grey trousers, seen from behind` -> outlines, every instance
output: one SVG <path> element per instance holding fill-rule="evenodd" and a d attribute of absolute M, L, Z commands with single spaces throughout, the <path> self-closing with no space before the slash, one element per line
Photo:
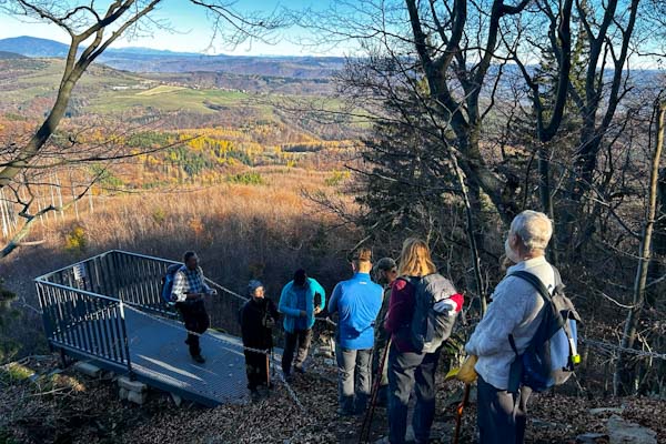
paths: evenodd
<path fill-rule="evenodd" d="M 382 307 L 382 287 L 370 280 L 370 249 L 356 252 L 352 269 L 354 276 L 335 285 L 329 302 L 329 313 L 340 314 L 335 332 L 335 357 L 339 373 L 337 413 L 343 416 L 365 411 L 372 385 L 374 324 Z M 355 387 L 354 371 L 359 372 Z"/>

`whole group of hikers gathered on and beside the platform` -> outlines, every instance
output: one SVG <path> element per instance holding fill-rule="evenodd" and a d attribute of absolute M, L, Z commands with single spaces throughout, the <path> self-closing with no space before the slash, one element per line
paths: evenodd
<path fill-rule="evenodd" d="M 512 222 L 505 239 L 507 266 L 492 303 L 465 345 L 467 360 L 458 372 L 465 384 L 477 380 L 477 428 L 481 443 L 522 443 L 526 405 L 533 391 L 559 384 L 576 363 L 573 305 L 564 295 L 557 270 L 546 258 L 551 220 L 526 210 Z M 254 400 L 271 386 L 268 352 L 272 329 L 283 317 L 285 381 L 304 373 L 315 316 L 327 309 L 336 316 L 339 410 L 360 415 L 387 406 L 392 444 L 405 443 L 407 411 L 414 398 L 413 442 L 427 443 L 435 417 L 435 374 L 443 344 L 450 337 L 464 297 L 440 273 L 425 241 L 404 241 L 400 259 L 384 258 L 373 266 L 372 252 L 361 248 L 351 260 L 353 276 L 326 292 L 304 270 L 282 289 L 278 306 L 251 281 L 249 301 L 240 311 L 248 387 Z M 371 276 L 372 274 L 372 276 Z M 198 334 L 208 326 L 205 285 L 198 258 L 188 252 L 173 274 L 172 301 L 190 332 L 192 359 L 201 355 Z M 375 383 L 373 385 L 373 377 Z"/>

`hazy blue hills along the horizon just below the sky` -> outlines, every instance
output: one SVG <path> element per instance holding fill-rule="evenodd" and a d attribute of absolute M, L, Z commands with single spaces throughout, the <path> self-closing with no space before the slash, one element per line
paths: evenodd
<path fill-rule="evenodd" d="M 27 57 L 63 58 L 67 44 L 34 37 L 0 40 L 0 51 Z M 269 75 L 295 79 L 327 79 L 344 67 L 335 57 L 246 57 L 203 56 L 150 48 L 109 49 L 99 58 L 109 67 L 132 72 L 225 72 L 241 75 Z"/>

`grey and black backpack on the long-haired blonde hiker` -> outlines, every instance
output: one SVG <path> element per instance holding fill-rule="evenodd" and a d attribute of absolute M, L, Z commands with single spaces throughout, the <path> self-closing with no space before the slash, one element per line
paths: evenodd
<path fill-rule="evenodd" d="M 400 279 L 414 285 L 414 315 L 408 327 L 412 345 L 418 353 L 433 353 L 451 336 L 457 311 L 447 307 L 446 300 L 457 292 L 438 273 Z"/>

